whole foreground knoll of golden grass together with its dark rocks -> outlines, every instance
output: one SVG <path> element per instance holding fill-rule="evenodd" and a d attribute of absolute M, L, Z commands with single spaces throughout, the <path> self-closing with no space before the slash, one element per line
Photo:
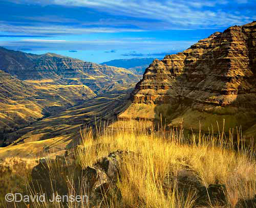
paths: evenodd
<path fill-rule="evenodd" d="M 234 130 L 237 136 L 220 129 L 218 135 L 187 137 L 180 125 L 167 131 L 164 126 L 128 121 L 117 123 L 116 131 L 103 122 L 95 131 L 81 130 L 80 145 L 65 156 L 46 155 L 32 172 L 23 161 L 24 174 L 14 169 L 20 163 L 14 165 L 6 158 L 1 198 L 17 190 L 89 197 L 88 203 L 29 204 L 37 208 L 254 207 L 255 148 L 245 146 L 239 128 Z M 10 177 L 3 174 L 5 170 Z M 3 201 L 2 207 L 27 205 Z"/>

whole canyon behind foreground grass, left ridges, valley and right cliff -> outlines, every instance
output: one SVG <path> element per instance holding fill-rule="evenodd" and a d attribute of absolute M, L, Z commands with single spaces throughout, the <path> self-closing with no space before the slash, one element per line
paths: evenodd
<path fill-rule="evenodd" d="M 27 61 L 20 62 L 21 52 L 2 49 L 1 144 L 7 147 L 0 155 L 62 152 L 79 144 L 84 126 L 115 129 L 127 120 L 187 132 L 239 129 L 255 137 L 255 45 L 256 22 L 233 26 L 155 59 L 141 80 L 129 69 L 57 54 L 22 53 Z"/>

